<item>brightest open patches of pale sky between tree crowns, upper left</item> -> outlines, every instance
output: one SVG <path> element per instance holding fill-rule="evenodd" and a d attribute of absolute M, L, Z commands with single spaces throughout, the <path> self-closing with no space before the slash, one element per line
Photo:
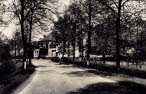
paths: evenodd
<path fill-rule="evenodd" d="M 4 1 L 4 0 L 0 0 Z M 11 3 L 12 0 L 5 0 L 5 4 Z M 68 6 L 70 3 L 70 0 L 59 0 L 59 3 L 62 5 L 60 10 L 64 10 L 64 6 Z M 13 35 L 13 32 L 16 30 L 16 23 L 15 19 L 12 20 L 12 22 L 9 23 L 8 26 L 3 27 L 0 26 L 0 32 L 2 32 L 4 35 L 6 35 L 8 38 L 11 38 Z"/>

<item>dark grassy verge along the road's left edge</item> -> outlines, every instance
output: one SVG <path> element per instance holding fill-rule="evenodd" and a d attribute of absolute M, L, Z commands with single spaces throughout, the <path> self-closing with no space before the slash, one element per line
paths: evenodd
<path fill-rule="evenodd" d="M 10 94 L 12 90 L 14 90 L 25 80 L 27 80 L 31 76 L 31 74 L 35 71 L 34 67 L 27 69 L 25 71 L 22 70 L 21 67 L 22 66 L 17 67 L 19 69 L 17 69 L 17 71 L 13 75 L 5 77 L 4 80 L 1 80 L 0 94 Z"/>

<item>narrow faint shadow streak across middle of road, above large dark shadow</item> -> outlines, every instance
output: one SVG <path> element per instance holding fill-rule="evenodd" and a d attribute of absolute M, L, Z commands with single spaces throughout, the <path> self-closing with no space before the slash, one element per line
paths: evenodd
<path fill-rule="evenodd" d="M 75 71 L 75 72 L 69 72 L 69 73 L 64 73 L 64 74 L 73 76 L 73 77 L 95 77 L 96 76 L 86 71 Z"/>

